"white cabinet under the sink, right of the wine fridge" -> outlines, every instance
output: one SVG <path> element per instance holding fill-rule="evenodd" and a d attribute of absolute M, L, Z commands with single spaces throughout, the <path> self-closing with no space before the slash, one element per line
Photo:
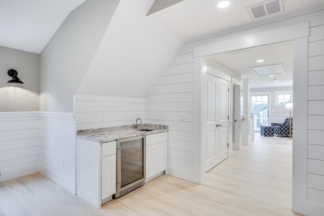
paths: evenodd
<path fill-rule="evenodd" d="M 163 175 L 167 169 L 167 132 L 146 136 L 146 180 Z"/>

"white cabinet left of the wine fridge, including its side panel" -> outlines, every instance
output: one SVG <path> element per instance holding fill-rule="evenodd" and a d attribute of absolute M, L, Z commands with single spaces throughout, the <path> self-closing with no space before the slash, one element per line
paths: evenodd
<path fill-rule="evenodd" d="M 116 193 L 116 142 L 77 139 L 77 195 L 97 208 Z"/>

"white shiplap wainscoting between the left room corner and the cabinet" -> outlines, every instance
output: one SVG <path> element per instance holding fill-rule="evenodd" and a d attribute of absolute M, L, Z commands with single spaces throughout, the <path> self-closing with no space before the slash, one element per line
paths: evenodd
<path fill-rule="evenodd" d="M 76 141 L 73 113 L 39 113 L 39 163 L 48 178 L 76 192 Z"/>

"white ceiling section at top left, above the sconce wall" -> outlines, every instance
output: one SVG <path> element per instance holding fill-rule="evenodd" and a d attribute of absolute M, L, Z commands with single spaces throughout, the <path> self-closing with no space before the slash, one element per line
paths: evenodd
<path fill-rule="evenodd" d="M 86 0 L 1 0 L 0 46 L 41 53 L 67 15 Z"/>

